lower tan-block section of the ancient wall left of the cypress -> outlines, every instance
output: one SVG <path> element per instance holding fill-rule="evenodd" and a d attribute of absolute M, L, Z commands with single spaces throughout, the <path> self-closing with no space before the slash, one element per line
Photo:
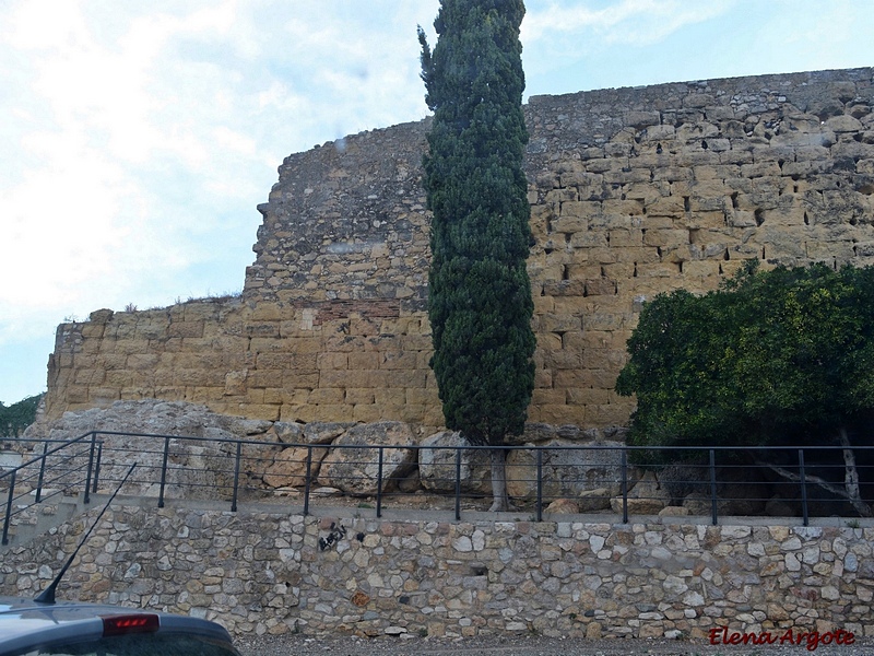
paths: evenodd
<path fill-rule="evenodd" d="M 426 317 L 395 300 L 98 311 L 58 329 L 45 419 L 157 398 L 270 421 L 393 417 L 436 427 L 429 353 Z"/>

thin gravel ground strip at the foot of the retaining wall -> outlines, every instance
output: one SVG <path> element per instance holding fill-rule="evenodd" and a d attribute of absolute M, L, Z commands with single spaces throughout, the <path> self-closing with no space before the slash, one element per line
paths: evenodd
<path fill-rule="evenodd" d="M 536 635 L 492 636 L 463 640 L 432 637 L 309 637 L 305 635 L 261 636 L 237 640 L 244 656 L 872 656 L 874 640 L 860 639 L 852 645 L 725 646 L 706 641 L 675 640 L 560 640 Z"/>

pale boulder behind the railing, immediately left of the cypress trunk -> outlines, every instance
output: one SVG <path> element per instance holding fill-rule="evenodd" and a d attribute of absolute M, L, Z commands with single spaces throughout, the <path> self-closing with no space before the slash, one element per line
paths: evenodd
<path fill-rule="evenodd" d="M 472 449 L 458 431 L 441 431 L 426 437 L 418 450 L 422 487 L 433 492 L 454 492 L 456 454 L 461 448 L 459 478 L 462 492 L 492 494 L 492 465 L 487 449 Z"/>

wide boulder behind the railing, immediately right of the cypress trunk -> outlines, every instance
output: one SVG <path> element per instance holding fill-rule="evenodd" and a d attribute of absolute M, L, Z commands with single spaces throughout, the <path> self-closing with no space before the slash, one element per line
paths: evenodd
<path fill-rule="evenodd" d="M 533 446 L 533 445 L 532 445 Z M 580 444 L 566 440 L 553 440 L 541 455 L 543 496 L 578 497 L 587 490 L 607 489 L 617 494 L 622 485 L 622 442 L 590 442 Z M 566 448 L 566 447 L 577 448 Z M 581 448 L 580 448 L 581 447 Z M 516 499 L 536 495 L 538 465 L 533 449 L 513 450 L 507 457 L 507 490 Z M 628 468 L 628 477 L 635 470 Z M 633 478 L 628 484 L 631 485 Z"/>

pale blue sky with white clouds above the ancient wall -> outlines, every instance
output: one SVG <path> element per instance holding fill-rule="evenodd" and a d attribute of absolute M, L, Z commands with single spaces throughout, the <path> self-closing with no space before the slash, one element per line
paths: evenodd
<path fill-rule="evenodd" d="M 530 95 L 874 66 L 874 0 L 528 0 Z M 237 293 L 291 153 L 427 116 L 438 0 L 0 0 L 0 401 L 99 308 Z"/>

